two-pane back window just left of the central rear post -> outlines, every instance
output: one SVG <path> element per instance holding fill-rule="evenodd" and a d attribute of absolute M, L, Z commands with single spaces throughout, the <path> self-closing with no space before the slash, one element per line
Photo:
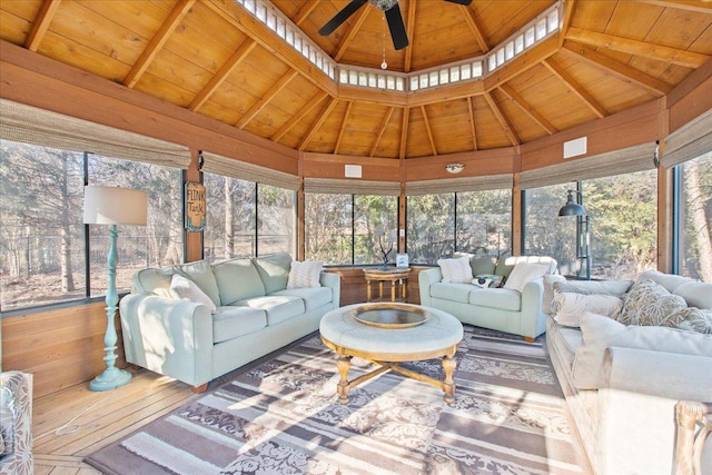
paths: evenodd
<path fill-rule="evenodd" d="M 306 258 L 327 265 L 395 261 L 398 198 L 379 195 L 305 194 Z"/>

